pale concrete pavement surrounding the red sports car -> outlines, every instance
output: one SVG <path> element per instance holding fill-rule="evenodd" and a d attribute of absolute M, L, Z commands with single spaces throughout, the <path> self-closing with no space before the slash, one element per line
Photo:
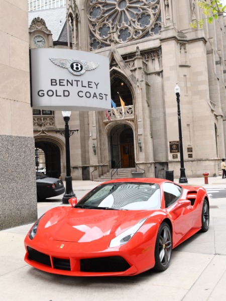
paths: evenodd
<path fill-rule="evenodd" d="M 73 181 L 73 190 L 80 199 L 98 184 Z M 226 188 L 226 179 L 209 177 L 205 184 L 203 177 L 188 178 L 188 185 L 204 186 L 210 195 L 217 193 L 216 188 Z M 62 206 L 62 196 L 39 202 L 38 216 Z M 24 238 L 32 224 L 0 231 L 0 301 L 226 300 L 226 190 L 221 198 L 210 195 L 209 201 L 209 230 L 195 234 L 175 248 L 169 268 L 161 273 L 149 270 L 131 277 L 45 273 L 24 261 Z"/>

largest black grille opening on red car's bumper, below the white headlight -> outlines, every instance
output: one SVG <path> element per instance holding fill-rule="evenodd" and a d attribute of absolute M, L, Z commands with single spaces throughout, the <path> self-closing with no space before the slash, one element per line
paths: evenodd
<path fill-rule="evenodd" d="M 99 257 L 80 260 L 81 272 L 123 272 L 131 266 L 121 256 Z"/>

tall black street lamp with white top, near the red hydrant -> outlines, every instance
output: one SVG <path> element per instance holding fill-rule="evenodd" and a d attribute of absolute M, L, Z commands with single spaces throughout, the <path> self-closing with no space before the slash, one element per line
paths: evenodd
<path fill-rule="evenodd" d="M 181 131 L 181 118 L 180 118 L 180 87 L 176 84 L 174 91 L 177 96 L 177 115 L 178 115 L 178 129 L 179 129 L 179 145 L 180 145 L 180 178 L 179 183 L 187 183 L 184 168 L 184 155 L 183 155 L 183 142 L 182 142 L 182 131 Z"/>

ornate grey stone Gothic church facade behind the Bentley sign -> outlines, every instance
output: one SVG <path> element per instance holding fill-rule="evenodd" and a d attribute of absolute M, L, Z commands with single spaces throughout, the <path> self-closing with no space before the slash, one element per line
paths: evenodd
<path fill-rule="evenodd" d="M 58 19 L 56 35 L 59 24 L 46 14 L 36 16 L 43 27 L 29 23 L 31 48 L 39 34 L 43 47 L 91 51 L 109 59 L 116 109 L 72 112 L 70 128 L 79 130 L 70 137 L 73 179 L 95 179 L 116 167 L 136 168 L 146 177 L 165 177 L 165 170 L 174 170 L 179 177 L 176 84 L 186 176 L 218 174 L 226 141 L 222 15 L 210 25 L 204 22 L 203 29 L 192 29 L 189 24 L 201 18 L 201 11 L 191 0 L 68 0 L 66 21 Z M 64 177 L 61 112 L 34 113 L 36 149 L 45 153 L 42 162 L 52 175 Z"/>

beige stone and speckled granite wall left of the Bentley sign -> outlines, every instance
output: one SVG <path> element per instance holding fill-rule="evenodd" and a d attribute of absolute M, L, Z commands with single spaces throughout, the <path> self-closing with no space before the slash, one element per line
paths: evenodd
<path fill-rule="evenodd" d="M 37 219 L 27 0 L 0 0 L 0 230 Z M 16 22 L 14 22 L 16 20 Z"/>

